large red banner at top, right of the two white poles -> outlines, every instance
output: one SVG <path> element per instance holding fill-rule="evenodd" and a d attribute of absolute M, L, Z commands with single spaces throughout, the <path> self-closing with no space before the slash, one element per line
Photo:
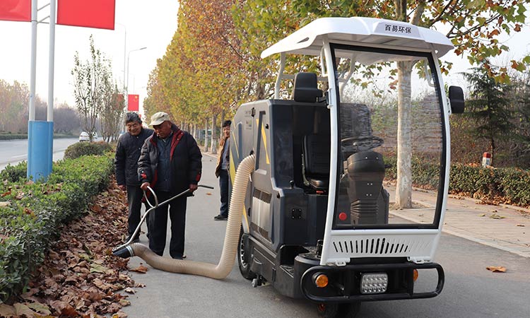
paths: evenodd
<path fill-rule="evenodd" d="M 116 0 L 57 0 L 57 24 L 114 30 Z"/>

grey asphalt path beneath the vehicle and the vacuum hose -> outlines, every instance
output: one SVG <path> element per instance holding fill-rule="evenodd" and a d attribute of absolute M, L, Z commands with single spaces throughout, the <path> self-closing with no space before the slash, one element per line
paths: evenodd
<path fill-rule="evenodd" d="M 204 156 L 202 184 L 188 200 L 187 259 L 217 264 L 223 246 L 225 221 L 218 214 L 218 181 L 213 176 L 216 160 Z M 122 234 L 125 237 L 124 234 Z M 168 237 L 169 238 L 169 237 Z M 145 235 L 141 242 L 146 244 Z M 165 256 L 168 256 L 167 246 Z M 358 317 L 363 318 L 528 318 L 530 317 L 530 259 L 452 235 L 442 235 L 436 261 L 444 266 L 442 294 L 425 300 L 364 302 Z M 147 266 L 145 274 L 131 272 L 145 288 L 135 288 L 129 317 L 318 317 L 316 306 L 307 300 L 286 298 L 265 285 L 252 288 L 242 278 L 237 262 L 224 280 L 167 273 L 151 268 L 139 257 L 129 266 Z M 506 273 L 493 273 L 486 266 L 505 266 Z M 432 287 L 430 272 L 420 272 L 418 285 Z M 435 279 L 435 278 L 433 278 Z"/>

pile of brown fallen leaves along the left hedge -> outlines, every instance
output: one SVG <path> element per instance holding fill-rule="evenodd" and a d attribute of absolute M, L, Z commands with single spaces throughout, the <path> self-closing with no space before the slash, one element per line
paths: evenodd
<path fill-rule="evenodd" d="M 26 293 L 1 304 L 0 317 L 126 317 L 121 308 L 129 301 L 118 292 L 143 287 L 127 275 L 129 259 L 112 255 L 126 223 L 126 194 L 111 182 L 86 216 L 61 229 Z"/>

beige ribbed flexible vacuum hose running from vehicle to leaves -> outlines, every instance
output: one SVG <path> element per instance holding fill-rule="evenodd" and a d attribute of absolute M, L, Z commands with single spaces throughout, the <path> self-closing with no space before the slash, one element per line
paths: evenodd
<path fill-rule="evenodd" d="M 247 185 L 252 171 L 254 171 L 254 155 L 249 155 L 237 167 L 235 180 L 232 187 L 232 198 L 230 199 L 230 210 L 228 223 L 226 225 L 225 244 L 218 264 L 204 263 L 201 261 L 184 261 L 160 257 L 151 249 L 140 243 L 133 243 L 114 252 L 119 257 L 137 256 L 153 266 L 155 269 L 169 271 L 172 273 L 189 273 L 192 275 L 223 279 L 234 266 L 237 244 L 239 244 L 242 211 L 245 209 L 245 197 L 247 196 Z"/>

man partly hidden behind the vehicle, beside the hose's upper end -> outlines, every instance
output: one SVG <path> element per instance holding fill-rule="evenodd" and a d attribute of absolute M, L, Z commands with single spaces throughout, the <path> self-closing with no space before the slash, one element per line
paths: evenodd
<path fill-rule="evenodd" d="M 230 167 L 230 120 L 223 122 L 223 139 L 219 143 L 216 177 L 219 178 L 220 211 L 213 220 L 228 219 L 228 168 Z"/>

